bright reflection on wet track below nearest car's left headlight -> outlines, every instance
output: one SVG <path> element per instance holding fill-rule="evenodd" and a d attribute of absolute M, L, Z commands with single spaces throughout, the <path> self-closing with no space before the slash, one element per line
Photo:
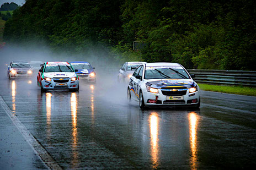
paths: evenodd
<path fill-rule="evenodd" d="M 159 128 L 159 118 L 156 112 L 151 113 L 150 118 L 150 137 L 151 137 L 151 160 L 153 163 L 153 169 L 156 169 L 159 165 L 159 146 L 158 146 L 158 128 Z"/>

